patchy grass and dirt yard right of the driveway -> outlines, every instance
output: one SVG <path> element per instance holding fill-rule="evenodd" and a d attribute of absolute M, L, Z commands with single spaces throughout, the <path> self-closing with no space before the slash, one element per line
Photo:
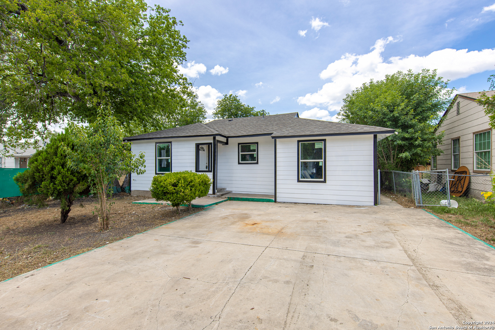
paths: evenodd
<path fill-rule="evenodd" d="M 416 207 L 409 196 L 405 197 L 403 194 L 397 195 L 392 192 L 382 192 L 382 194 L 404 207 Z M 458 208 L 446 206 L 423 206 L 423 208 L 463 231 L 494 245 L 495 203 L 484 202 L 472 197 L 452 196 L 451 199 L 459 203 Z"/>

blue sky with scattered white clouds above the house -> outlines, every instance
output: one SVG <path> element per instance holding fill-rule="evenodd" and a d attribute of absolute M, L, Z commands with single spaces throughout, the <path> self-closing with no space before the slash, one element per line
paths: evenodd
<path fill-rule="evenodd" d="M 216 100 L 234 93 L 270 114 L 336 120 L 346 93 L 397 70 L 437 68 L 459 93 L 488 89 L 494 1 L 148 3 L 184 23 L 190 43 L 181 72 L 209 118 Z"/>

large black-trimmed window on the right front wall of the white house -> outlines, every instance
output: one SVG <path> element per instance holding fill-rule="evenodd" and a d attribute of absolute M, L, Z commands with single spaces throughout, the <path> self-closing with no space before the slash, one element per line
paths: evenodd
<path fill-rule="evenodd" d="M 326 183 L 327 141 L 297 141 L 297 182 Z"/>

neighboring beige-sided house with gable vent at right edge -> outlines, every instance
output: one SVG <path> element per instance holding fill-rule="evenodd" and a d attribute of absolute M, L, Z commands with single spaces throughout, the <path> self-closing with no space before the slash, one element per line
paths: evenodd
<path fill-rule="evenodd" d="M 486 92 L 491 96 L 495 91 Z M 432 157 L 432 169 L 448 169 L 454 173 L 466 166 L 471 180 L 470 194 L 480 197 L 480 191 L 491 191 L 490 172 L 494 163 L 493 133 L 485 108 L 476 102 L 480 92 L 456 94 L 442 117 L 437 134 L 445 131 L 442 145 L 444 153 Z"/>

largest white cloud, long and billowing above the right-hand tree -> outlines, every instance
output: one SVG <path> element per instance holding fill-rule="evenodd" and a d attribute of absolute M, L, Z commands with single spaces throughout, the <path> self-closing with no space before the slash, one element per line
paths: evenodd
<path fill-rule="evenodd" d="M 381 53 L 388 43 L 397 40 L 389 37 L 377 40 L 367 54 L 346 53 L 339 60 L 330 63 L 320 73 L 321 79 L 331 79 L 316 93 L 308 93 L 297 98 L 299 104 L 309 106 L 325 105 L 328 109 L 339 110 L 342 98 L 353 89 L 369 82 L 370 79 L 381 80 L 387 74 L 412 69 L 438 69 L 439 76 L 455 80 L 472 74 L 493 70 L 495 67 L 495 49 L 467 51 L 467 49 L 441 49 L 426 56 L 409 55 L 391 57 L 384 61 Z"/>

